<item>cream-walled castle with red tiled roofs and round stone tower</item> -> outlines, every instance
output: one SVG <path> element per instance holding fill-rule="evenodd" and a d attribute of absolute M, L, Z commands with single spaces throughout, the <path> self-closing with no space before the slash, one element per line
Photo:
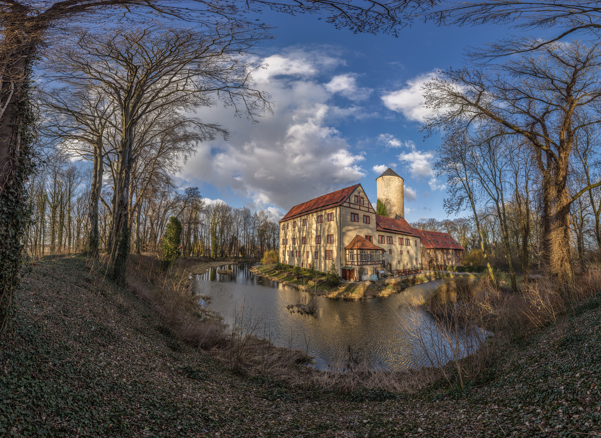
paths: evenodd
<path fill-rule="evenodd" d="M 391 168 L 376 178 L 377 198 L 386 205 L 388 216 L 376 214 L 361 184 L 290 208 L 279 221 L 280 260 L 301 267 L 315 262 L 322 272 L 335 263 L 338 275 L 346 280 L 367 279 L 380 270 L 422 268 L 423 253 L 430 269 L 441 264 L 436 251 L 432 257 L 427 252 L 436 248 L 422 243 L 428 232 L 414 230 L 404 219 L 403 184 Z M 463 251 L 450 236 L 447 239 L 453 250 Z M 442 264 L 451 263 L 445 258 Z"/>

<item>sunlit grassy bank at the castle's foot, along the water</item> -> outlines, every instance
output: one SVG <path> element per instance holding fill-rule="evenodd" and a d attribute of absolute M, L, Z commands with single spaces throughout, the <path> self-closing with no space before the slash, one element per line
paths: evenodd
<path fill-rule="evenodd" d="M 266 276 L 274 281 L 278 281 L 285 285 L 291 285 L 299 289 L 314 290 L 317 295 L 323 295 L 328 298 L 346 298 L 346 299 L 360 299 L 360 298 L 375 298 L 375 297 L 387 297 L 393 293 L 403 291 L 405 288 L 432 281 L 435 278 L 440 278 L 440 273 L 431 274 L 418 274 L 413 276 L 407 276 L 405 278 L 390 278 L 388 284 L 382 284 L 380 281 L 378 284 L 369 282 L 353 282 L 353 283 L 342 283 L 340 285 L 329 285 L 326 282 L 326 274 L 324 272 L 316 272 L 317 284 L 308 284 L 307 278 L 296 278 L 294 270 L 296 267 L 288 265 L 283 270 L 276 270 L 275 264 L 255 266 L 252 268 L 252 272 L 258 275 Z M 300 275 L 307 276 L 309 274 L 308 269 L 299 268 Z M 453 276 L 450 273 L 442 273 L 444 277 Z M 473 277 L 473 275 L 471 275 Z"/>

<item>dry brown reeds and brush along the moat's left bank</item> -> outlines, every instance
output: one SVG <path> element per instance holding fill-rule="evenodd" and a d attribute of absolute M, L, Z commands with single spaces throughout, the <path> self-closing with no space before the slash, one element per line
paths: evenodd
<path fill-rule="evenodd" d="M 246 312 L 243 302 L 234 309 L 229 325 L 223 323 L 221 315 L 203 308 L 198 299 L 210 297 L 190 290 L 189 270 L 195 263 L 196 260 L 178 260 L 171 269 L 161 272 L 154 255 L 130 255 L 127 287 L 157 312 L 157 330 L 205 351 L 237 373 L 267 373 L 311 360 L 301 350 L 275 347 L 269 327 L 264 326 L 260 315 Z M 258 337 L 261 329 L 264 339 Z"/>

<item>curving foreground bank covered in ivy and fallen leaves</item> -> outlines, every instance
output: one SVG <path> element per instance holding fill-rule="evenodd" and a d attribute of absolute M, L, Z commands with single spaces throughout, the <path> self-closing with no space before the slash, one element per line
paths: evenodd
<path fill-rule="evenodd" d="M 297 365 L 296 380 L 281 369 L 232 373 L 165 330 L 165 308 L 115 287 L 79 256 L 46 257 L 26 275 L 14 332 L 1 338 L 0 434 L 599 436 L 599 304 L 597 294 L 506 344 L 464 391 L 432 383 L 437 374 L 426 370 L 396 376 L 412 391 L 349 393 L 344 383 L 364 371 L 328 377 Z M 395 376 L 379 378 L 384 386 Z"/>

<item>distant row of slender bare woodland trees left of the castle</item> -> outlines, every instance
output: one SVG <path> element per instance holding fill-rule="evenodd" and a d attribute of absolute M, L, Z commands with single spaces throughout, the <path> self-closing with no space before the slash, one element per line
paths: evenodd
<path fill-rule="evenodd" d="M 33 219 L 27 230 L 29 254 L 40 257 L 88 249 L 91 181 L 91 169 L 82 170 L 61 151 L 49 154 L 29 185 Z M 110 198 L 111 187 L 102 194 Z M 162 252 L 171 217 L 182 227 L 178 251 L 185 256 L 261 257 L 264 251 L 279 248 L 278 224 L 269 221 L 265 210 L 206 202 L 197 187 L 178 190 L 171 178 L 154 181 L 137 205 L 129 222 L 130 251 L 137 254 Z M 109 251 L 111 214 L 103 204 L 97 211 L 97 229 L 100 251 Z"/>

